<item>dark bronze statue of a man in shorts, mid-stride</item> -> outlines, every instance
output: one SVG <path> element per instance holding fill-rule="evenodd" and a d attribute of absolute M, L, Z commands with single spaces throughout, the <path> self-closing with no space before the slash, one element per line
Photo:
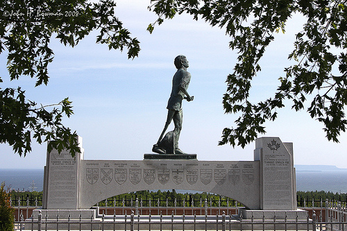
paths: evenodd
<path fill-rule="evenodd" d="M 175 58 L 174 64 L 177 71 L 172 79 L 172 90 L 169 101 L 167 103 L 167 121 L 162 130 L 157 144 L 153 145 L 152 151 L 160 154 L 185 154 L 178 148 L 178 139 L 180 137 L 180 130 L 182 130 L 183 112 L 182 101 L 192 101 L 194 96 L 189 96 L 187 89 L 190 82 L 190 73 L 187 71 L 189 62 L 184 55 L 178 55 Z M 175 128 L 171 132 L 167 132 L 164 136 L 171 121 L 174 120 Z M 162 138 L 164 136 L 164 138 Z"/>

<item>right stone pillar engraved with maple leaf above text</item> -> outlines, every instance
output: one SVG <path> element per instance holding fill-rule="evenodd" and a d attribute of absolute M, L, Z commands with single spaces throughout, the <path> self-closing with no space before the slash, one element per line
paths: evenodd
<path fill-rule="evenodd" d="M 293 144 L 262 137 L 255 141 L 254 157 L 260 161 L 260 209 L 296 209 Z"/>

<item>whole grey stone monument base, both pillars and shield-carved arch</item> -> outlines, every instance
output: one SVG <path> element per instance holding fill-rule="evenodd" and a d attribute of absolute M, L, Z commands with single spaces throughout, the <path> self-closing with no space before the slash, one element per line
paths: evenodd
<path fill-rule="evenodd" d="M 83 151 L 81 137 L 78 143 Z M 53 150 L 47 153 L 43 208 L 90 209 L 131 191 L 186 189 L 228 196 L 247 209 L 296 210 L 292 144 L 262 137 L 255 145 L 254 161 L 83 160 L 83 153 Z"/>

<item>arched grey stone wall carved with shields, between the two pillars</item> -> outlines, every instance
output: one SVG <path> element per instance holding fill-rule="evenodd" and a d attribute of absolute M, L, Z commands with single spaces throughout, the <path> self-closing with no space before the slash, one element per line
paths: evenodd
<path fill-rule="evenodd" d="M 103 168 L 105 164 L 107 168 Z M 115 195 L 153 189 L 206 191 L 233 198 L 250 209 L 260 207 L 259 162 L 169 160 L 165 163 L 165 169 L 160 169 L 157 164 L 155 160 L 83 161 L 79 208 L 89 209 L 99 201 Z M 87 166 L 94 168 L 88 169 Z M 111 169 L 109 166 L 123 167 Z M 176 166 L 186 168 L 176 169 Z M 226 169 L 227 166 L 233 166 L 234 169 Z M 88 181 L 92 172 L 95 182 Z"/>

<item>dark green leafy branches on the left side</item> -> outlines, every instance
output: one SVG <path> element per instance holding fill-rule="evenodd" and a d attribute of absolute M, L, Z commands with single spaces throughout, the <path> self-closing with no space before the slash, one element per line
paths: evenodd
<path fill-rule="evenodd" d="M 135 58 L 139 41 L 130 37 L 117 19 L 115 6 L 112 0 L 0 1 L 0 54 L 7 55 L 10 80 L 30 76 L 36 79 L 35 86 L 47 85 L 48 65 L 54 58 L 49 47 L 52 37 L 65 46 L 76 46 L 97 30 L 97 43 L 107 44 L 109 49 L 126 49 L 128 58 Z M 38 105 L 26 99 L 21 87 L 0 87 L 0 142 L 25 156 L 31 151 L 32 139 L 40 144 L 56 140 L 49 148 L 66 148 L 74 155 L 79 151 L 76 132 L 62 124 L 64 115 L 73 114 L 71 108 L 68 98 L 52 105 Z"/>

